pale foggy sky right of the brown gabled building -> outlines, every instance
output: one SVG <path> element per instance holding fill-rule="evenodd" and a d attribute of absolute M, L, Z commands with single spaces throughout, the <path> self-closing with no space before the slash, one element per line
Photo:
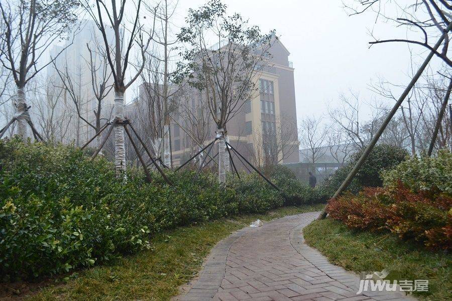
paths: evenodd
<path fill-rule="evenodd" d="M 189 8 L 198 8 L 205 0 L 180 0 L 175 24 L 184 24 Z M 295 68 L 295 97 L 298 121 L 305 115 L 325 113 L 326 104 L 338 101 L 338 94 L 349 89 L 363 100 L 375 93 L 368 89 L 371 79 L 384 77 L 394 84 L 409 82 L 410 52 L 405 43 L 385 43 L 369 49 L 373 30 L 378 38 L 404 38 L 405 29 L 380 21 L 372 12 L 349 17 L 340 0 L 223 0 L 228 14 L 249 18 L 264 32 L 276 29 L 281 42 L 290 51 Z M 403 1 L 401 2 L 403 3 Z M 426 51 L 410 46 L 423 60 Z M 433 65 L 438 65 L 433 58 Z M 391 103 L 387 101 L 387 103 Z M 367 110 L 369 112 L 369 110 Z"/>

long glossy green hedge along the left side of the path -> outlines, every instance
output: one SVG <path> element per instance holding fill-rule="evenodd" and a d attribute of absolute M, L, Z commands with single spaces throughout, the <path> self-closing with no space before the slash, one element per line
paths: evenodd
<path fill-rule="evenodd" d="M 153 173 L 115 176 L 103 158 L 80 149 L 44 143 L 0 141 L 0 274 L 4 279 L 56 274 L 152 247 L 162 229 L 202 223 L 237 213 L 258 213 L 284 204 L 325 200 L 284 172 L 272 181 L 256 174 L 217 176 L 168 172 L 169 187 Z"/>

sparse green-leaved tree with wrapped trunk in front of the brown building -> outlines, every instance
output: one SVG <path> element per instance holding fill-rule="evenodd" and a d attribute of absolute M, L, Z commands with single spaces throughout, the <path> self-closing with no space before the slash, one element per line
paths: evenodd
<path fill-rule="evenodd" d="M 227 123 L 257 92 L 256 77 L 268 64 L 268 50 L 276 37 L 274 32 L 262 35 L 239 14 L 228 16 L 220 0 L 190 9 L 187 23 L 178 36 L 190 47 L 184 52 L 187 80 L 206 94 L 219 139 L 218 180 L 224 183 L 229 167 Z M 217 43 L 210 46 L 212 39 Z"/>

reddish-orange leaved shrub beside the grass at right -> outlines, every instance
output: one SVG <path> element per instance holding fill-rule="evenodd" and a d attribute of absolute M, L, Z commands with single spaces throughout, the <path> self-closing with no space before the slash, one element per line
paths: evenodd
<path fill-rule="evenodd" d="M 401 183 L 395 189 L 366 188 L 357 196 L 331 199 L 331 218 L 361 230 L 389 230 L 403 239 L 424 243 L 430 249 L 450 248 L 452 198 L 431 192 L 413 193 Z"/>

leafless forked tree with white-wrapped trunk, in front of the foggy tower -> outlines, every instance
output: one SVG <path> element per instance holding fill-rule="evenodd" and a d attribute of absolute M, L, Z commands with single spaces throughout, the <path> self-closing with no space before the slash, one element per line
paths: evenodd
<path fill-rule="evenodd" d="M 129 5 L 133 6 L 131 10 L 126 9 Z M 116 0 L 104 2 L 102 0 L 95 0 L 94 8 L 91 6 L 89 0 L 83 0 L 82 6 L 94 20 L 97 29 L 102 35 L 105 54 L 114 80 L 116 120 L 115 168 L 117 172 L 120 172 L 126 169 L 124 127 L 121 123 L 124 120 L 124 93 L 143 71 L 146 61 L 146 51 L 154 31 L 153 29 L 147 31 L 144 24 L 140 21 L 142 0 L 137 0 L 136 2 L 126 0 L 121 2 L 117 2 Z M 131 16 L 126 16 L 126 11 L 131 12 Z M 103 20 L 105 16 L 108 26 L 114 32 L 114 41 L 112 42 L 108 41 L 106 35 L 106 25 Z M 131 20 L 131 24 L 128 24 L 127 19 Z M 128 71 L 130 55 L 133 53 L 134 48 L 140 54 L 141 62 L 138 63 L 136 71 L 128 80 L 126 72 Z"/>

